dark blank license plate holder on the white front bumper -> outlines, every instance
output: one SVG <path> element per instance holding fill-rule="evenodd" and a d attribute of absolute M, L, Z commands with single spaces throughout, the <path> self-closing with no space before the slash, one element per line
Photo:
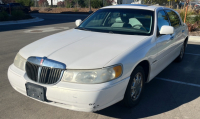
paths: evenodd
<path fill-rule="evenodd" d="M 47 101 L 45 87 L 32 84 L 32 83 L 26 83 L 25 86 L 26 86 L 27 96 L 30 96 L 32 98 L 35 98 L 41 101 Z"/>

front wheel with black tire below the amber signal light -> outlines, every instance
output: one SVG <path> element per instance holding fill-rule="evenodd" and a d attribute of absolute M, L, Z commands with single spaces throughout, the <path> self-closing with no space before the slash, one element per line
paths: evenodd
<path fill-rule="evenodd" d="M 137 76 L 141 77 L 140 83 L 136 83 Z M 126 88 L 124 99 L 122 101 L 124 106 L 134 107 L 135 105 L 139 103 L 142 96 L 143 89 L 144 89 L 144 84 L 145 84 L 144 81 L 145 81 L 144 69 L 141 66 L 137 66 L 132 72 L 128 86 Z M 138 85 L 135 85 L 135 84 L 138 84 Z M 139 88 L 138 86 L 141 86 L 141 87 Z M 139 91 L 138 94 L 136 94 L 136 91 Z"/>

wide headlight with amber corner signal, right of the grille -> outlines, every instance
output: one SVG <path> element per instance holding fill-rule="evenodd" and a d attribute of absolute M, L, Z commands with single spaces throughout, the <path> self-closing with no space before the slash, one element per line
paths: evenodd
<path fill-rule="evenodd" d="M 66 70 L 62 81 L 95 84 L 116 79 L 122 75 L 122 66 L 117 65 L 96 70 Z"/>

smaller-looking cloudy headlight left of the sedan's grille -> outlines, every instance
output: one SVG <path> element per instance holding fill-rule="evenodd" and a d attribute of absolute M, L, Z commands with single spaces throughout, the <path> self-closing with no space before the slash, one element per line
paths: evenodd
<path fill-rule="evenodd" d="M 26 64 L 26 59 L 23 58 L 19 53 L 17 53 L 15 60 L 14 60 L 14 65 L 17 68 L 25 71 L 25 64 Z"/>

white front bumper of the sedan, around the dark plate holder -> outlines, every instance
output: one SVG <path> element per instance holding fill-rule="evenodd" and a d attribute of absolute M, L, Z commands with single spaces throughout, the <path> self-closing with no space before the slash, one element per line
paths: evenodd
<path fill-rule="evenodd" d="M 43 103 L 84 112 L 98 111 L 122 100 L 129 81 L 128 77 L 117 83 L 75 84 L 59 82 L 56 85 L 43 85 L 30 80 L 24 71 L 13 64 L 8 69 L 8 79 L 12 87 L 25 96 L 27 96 L 25 84 L 27 82 L 34 83 L 47 88 L 46 97 L 50 102 Z"/>

